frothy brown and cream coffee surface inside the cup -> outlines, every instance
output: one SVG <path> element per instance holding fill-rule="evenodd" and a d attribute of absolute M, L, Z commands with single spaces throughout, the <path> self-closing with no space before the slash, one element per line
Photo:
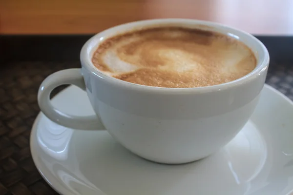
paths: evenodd
<path fill-rule="evenodd" d="M 184 27 L 153 27 L 105 39 L 92 62 L 113 78 L 169 88 L 230 82 L 249 74 L 257 63 L 237 39 Z"/>

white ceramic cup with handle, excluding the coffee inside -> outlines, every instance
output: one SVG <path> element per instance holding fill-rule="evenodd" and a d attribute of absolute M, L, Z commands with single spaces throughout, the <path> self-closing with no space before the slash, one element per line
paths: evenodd
<path fill-rule="evenodd" d="M 92 55 L 104 39 L 159 24 L 200 28 L 232 36 L 251 48 L 257 66 L 237 80 L 197 88 L 160 88 L 129 83 L 106 76 L 93 66 Z M 170 164 L 209 156 L 241 130 L 258 102 L 270 60 L 266 47 L 248 33 L 218 23 L 186 19 L 143 20 L 107 29 L 84 44 L 80 59 L 81 69 L 56 72 L 42 82 L 38 94 L 42 112 L 66 127 L 106 129 L 134 154 Z M 53 108 L 50 92 L 62 84 L 73 84 L 86 90 L 98 117 L 69 116 Z"/>

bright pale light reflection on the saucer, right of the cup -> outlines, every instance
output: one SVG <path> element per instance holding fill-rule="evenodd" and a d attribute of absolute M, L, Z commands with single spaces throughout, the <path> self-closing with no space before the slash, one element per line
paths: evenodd
<path fill-rule="evenodd" d="M 267 159 L 266 143 L 251 122 L 245 125 L 224 150 L 230 171 L 238 184 L 250 182 L 257 176 Z"/>

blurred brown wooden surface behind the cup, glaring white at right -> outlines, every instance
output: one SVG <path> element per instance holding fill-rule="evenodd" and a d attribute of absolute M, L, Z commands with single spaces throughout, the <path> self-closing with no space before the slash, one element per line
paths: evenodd
<path fill-rule="evenodd" d="M 293 35 L 293 0 L 0 0 L 0 34 L 93 34 L 135 20 L 190 18 Z"/>

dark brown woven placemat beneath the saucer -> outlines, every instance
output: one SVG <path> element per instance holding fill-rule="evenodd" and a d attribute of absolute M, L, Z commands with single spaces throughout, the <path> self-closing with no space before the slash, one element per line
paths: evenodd
<path fill-rule="evenodd" d="M 80 67 L 79 62 L 0 65 L 0 195 L 57 194 L 33 163 L 29 137 L 40 112 L 37 92 L 42 80 L 58 70 L 75 67 Z M 272 64 L 267 83 L 293 99 L 293 63 Z"/>

